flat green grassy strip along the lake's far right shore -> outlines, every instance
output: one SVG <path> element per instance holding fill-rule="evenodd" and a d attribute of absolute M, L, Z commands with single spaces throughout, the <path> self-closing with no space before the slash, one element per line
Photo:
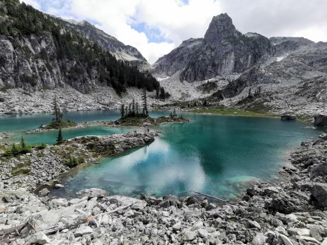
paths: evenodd
<path fill-rule="evenodd" d="M 247 110 L 241 110 L 236 108 L 220 108 L 220 109 L 198 109 L 192 110 L 191 112 L 195 113 L 211 113 L 219 115 L 232 115 L 232 116 L 256 116 L 256 117 L 279 117 L 281 115 L 268 114 L 268 113 L 259 113 Z"/>

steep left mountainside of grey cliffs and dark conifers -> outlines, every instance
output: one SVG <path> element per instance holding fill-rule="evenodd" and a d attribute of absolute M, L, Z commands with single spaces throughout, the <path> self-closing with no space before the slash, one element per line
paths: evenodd
<path fill-rule="evenodd" d="M 156 79 L 135 66 L 141 63 L 147 62 L 136 48 L 88 22 L 62 20 L 18 0 L 0 1 L 0 88 L 159 91 Z"/>

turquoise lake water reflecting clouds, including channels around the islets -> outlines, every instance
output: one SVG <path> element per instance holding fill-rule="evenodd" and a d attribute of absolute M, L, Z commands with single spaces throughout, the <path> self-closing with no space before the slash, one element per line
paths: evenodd
<path fill-rule="evenodd" d="M 169 112 L 151 112 L 153 117 Z M 301 121 L 279 118 L 220 116 L 183 113 L 191 122 L 166 124 L 162 134 L 143 148 L 103 158 L 78 171 L 65 183 L 68 193 L 103 188 L 110 194 L 139 196 L 187 195 L 197 190 L 220 198 L 238 197 L 249 181 L 277 178 L 278 168 L 287 163 L 289 152 L 301 141 L 321 131 Z M 119 112 L 67 112 L 76 122 L 117 119 Z M 49 114 L 0 116 L 0 131 L 10 131 L 11 141 L 24 135 L 32 144 L 54 143 L 57 132 L 25 134 L 23 131 L 48 123 Z M 64 138 L 79 135 L 108 135 L 131 132 L 130 128 L 92 126 L 64 130 Z M 141 129 L 142 130 L 142 129 Z"/>

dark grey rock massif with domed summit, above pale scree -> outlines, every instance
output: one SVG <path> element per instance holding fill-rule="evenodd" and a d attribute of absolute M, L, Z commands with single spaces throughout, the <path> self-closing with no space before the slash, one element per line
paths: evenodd
<path fill-rule="evenodd" d="M 204 38 L 184 41 L 154 64 L 154 73 L 171 76 L 179 70 L 180 80 L 206 80 L 241 72 L 272 52 L 269 39 L 254 33 L 243 35 L 227 14 L 220 14 L 212 19 Z"/>

